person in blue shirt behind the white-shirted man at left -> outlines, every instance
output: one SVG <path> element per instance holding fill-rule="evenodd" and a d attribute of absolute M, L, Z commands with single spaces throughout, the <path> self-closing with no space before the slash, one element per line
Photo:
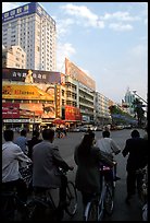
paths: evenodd
<path fill-rule="evenodd" d="M 27 138 L 26 138 L 26 136 L 27 136 L 27 131 L 25 130 L 25 129 L 23 129 L 22 131 L 21 131 L 21 136 L 20 137 L 17 137 L 15 140 L 14 140 L 14 143 L 15 144 L 17 144 L 21 149 L 22 149 L 22 151 L 25 153 L 25 154 L 27 154 L 28 152 L 27 152 Z"/>

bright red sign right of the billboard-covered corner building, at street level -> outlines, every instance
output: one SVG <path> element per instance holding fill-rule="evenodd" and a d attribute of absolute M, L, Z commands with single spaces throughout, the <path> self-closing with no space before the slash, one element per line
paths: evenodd
<path fill-rule="evenodd" d="M 79 108 L 66 105 L 65 106 L 65 120 L 82 120 Z"/>

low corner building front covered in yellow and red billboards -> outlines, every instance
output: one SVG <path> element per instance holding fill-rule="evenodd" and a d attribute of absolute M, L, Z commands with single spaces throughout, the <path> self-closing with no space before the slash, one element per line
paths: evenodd
<path fill-rule="evenodd" d="M 2 69 L 3 126 L 33 129 L 62 117 L 64 81 L 60 72 Z"/>

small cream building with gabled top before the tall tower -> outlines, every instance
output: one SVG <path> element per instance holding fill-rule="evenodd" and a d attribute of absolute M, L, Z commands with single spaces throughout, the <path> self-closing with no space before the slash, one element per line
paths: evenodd
<path fill-rule="evenodd" d="M 20 46 L 11 46 L 2 49 L 3 68 L 26 68 L 26 52 Z"/>

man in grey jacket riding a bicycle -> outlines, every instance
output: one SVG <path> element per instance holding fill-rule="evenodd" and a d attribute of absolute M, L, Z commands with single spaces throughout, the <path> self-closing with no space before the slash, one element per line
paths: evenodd
<path fill-rule="evenodd" d="M 47 190 L 60 188 L 59 209 L 66 206 L 67 178 L 60 172 L 73 169 L 61 156 L 59 148 L 53 143 L 54 130 L 43 129 L 42 141 L 33 148 L 33 187 Z"/>

